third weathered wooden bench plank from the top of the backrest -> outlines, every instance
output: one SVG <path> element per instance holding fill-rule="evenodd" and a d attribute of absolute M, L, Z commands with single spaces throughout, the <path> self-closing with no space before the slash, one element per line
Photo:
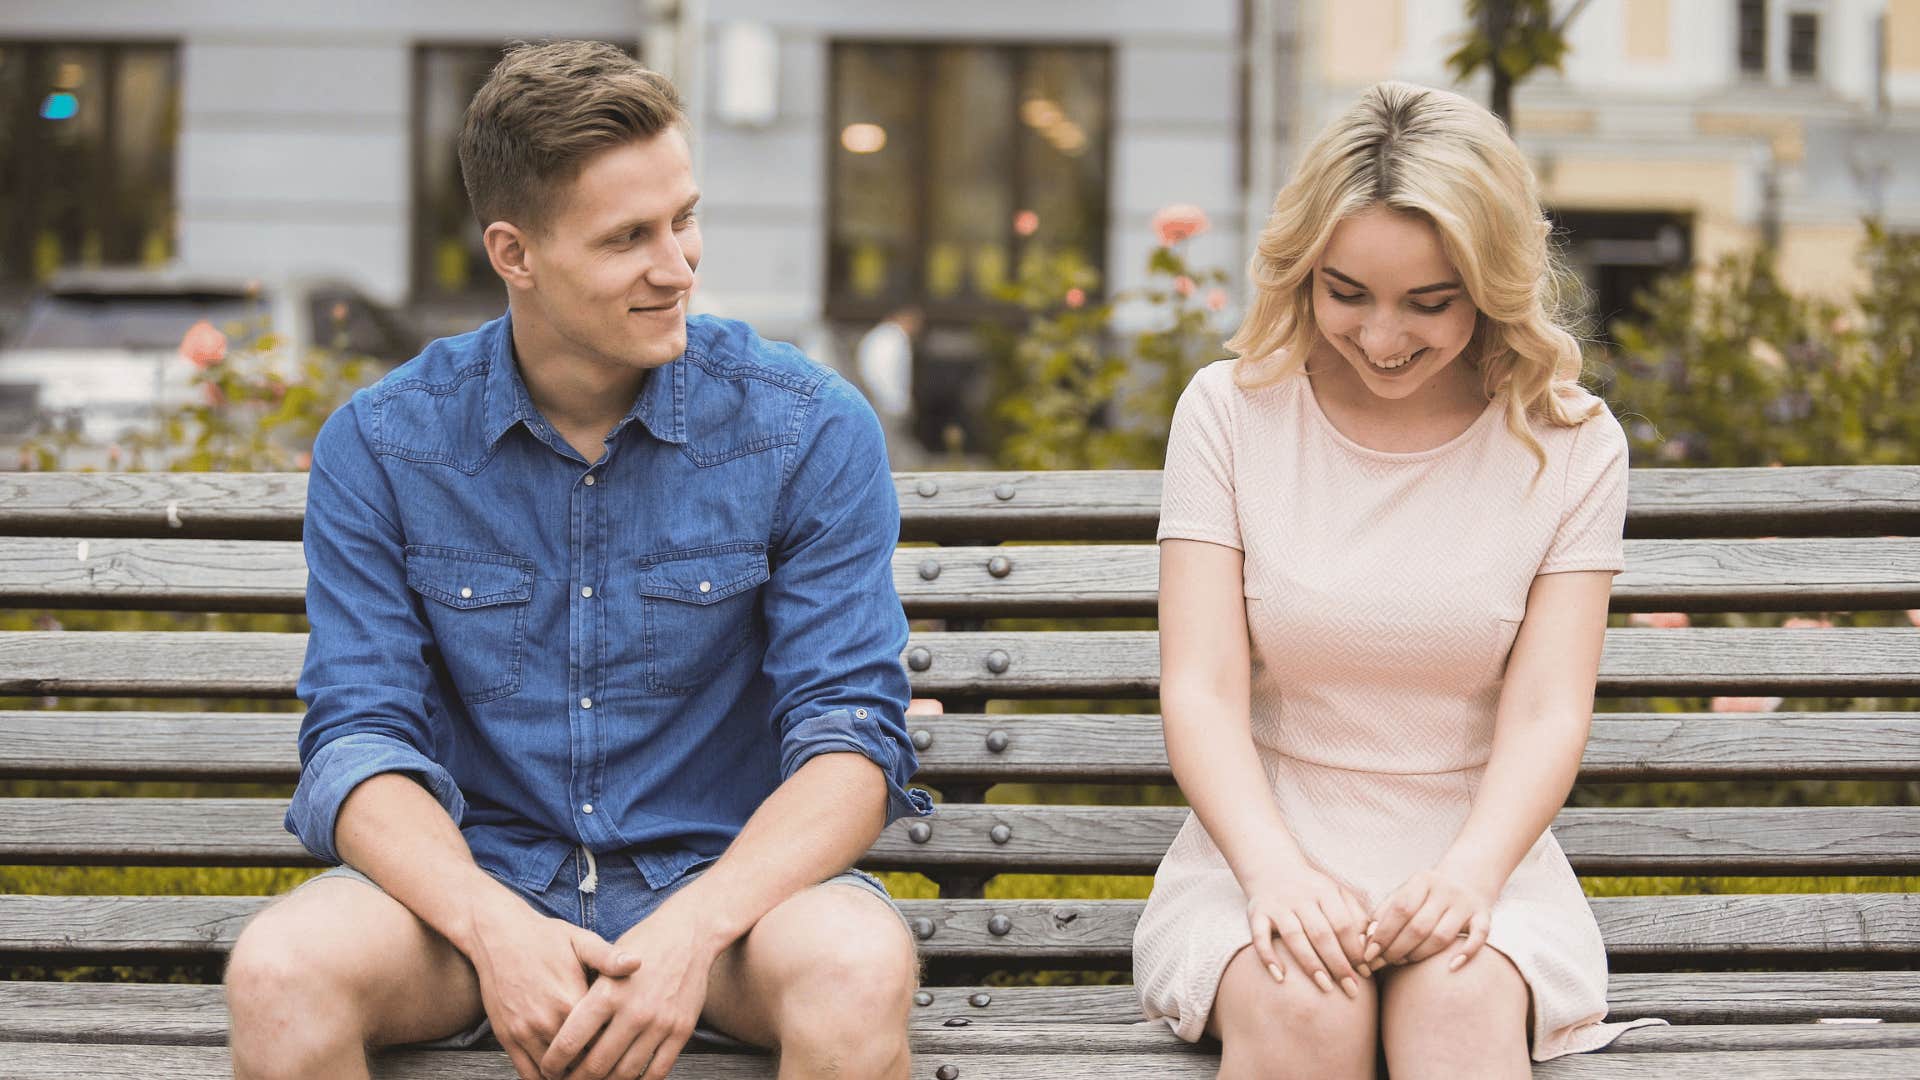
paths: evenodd
<path fill-rule="evenodd" d="M 0 694 L 246 696 L 294 692 L 305 634 L 0 632 Z M 922 696 L 1152 698 L 1148 630 L 924 632 L 906 665 Z M 1920 694 L 1910 628 L 1607 630 L 1601 694 Z"/>

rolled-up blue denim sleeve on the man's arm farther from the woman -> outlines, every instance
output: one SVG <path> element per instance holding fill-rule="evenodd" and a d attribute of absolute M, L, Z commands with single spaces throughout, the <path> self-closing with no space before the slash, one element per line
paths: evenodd
<path fill-rule="evenodd" d="M 300 673 L 300 786 L 286 830 L 338 863 L 334 824 L 348 794 L 380 773 L 420 782 L 459 824 L 449 732 L 428 663 L 434 642 L 407 590 L 399 513 L 357 421 L 365 396 L 313 444 L 307 479 L 307 657 Z"/>

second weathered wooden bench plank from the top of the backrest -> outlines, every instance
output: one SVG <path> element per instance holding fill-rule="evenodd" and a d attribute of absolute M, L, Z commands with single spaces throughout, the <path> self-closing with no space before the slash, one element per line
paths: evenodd
<path fill-rule="evenodd" d="M 1150 546 L 900 548 L 893 582 L 927 617 L 1154 615 Z M 0 536 L 0 605 L 303 611 L 286 540 Z M 1628 540 L 1615 611 L 1812 611 L 1920 605 L 1920 540 Z"/>

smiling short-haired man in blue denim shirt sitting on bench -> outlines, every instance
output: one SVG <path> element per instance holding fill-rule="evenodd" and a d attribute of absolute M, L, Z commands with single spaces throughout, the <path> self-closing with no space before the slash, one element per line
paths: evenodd
<path fill-rule="evenodd" d="M 906 1076 L 912 936 L 849 871 L 931 813 L 885 446 L 839 377 L 685 317 L 682 123 L 591 42 L 468 108 L 507 315 L 315 444 L 288 828 L 351 869 L 240 936 L 240 1078 L 492 1026 L 524 1080 L 657 1080 L 703 1017 L 783 1078 Z"/>

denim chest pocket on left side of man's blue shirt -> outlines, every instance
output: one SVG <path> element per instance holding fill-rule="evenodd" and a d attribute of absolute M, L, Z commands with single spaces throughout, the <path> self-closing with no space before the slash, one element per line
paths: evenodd
<path fill-rule="evenodd" d="M 534 563 L 516 555 L 409 544 L 407 588 L 424 598 L 426 623 L 461 701 L 520 692 Z"/>

